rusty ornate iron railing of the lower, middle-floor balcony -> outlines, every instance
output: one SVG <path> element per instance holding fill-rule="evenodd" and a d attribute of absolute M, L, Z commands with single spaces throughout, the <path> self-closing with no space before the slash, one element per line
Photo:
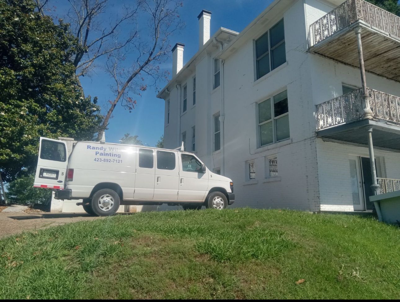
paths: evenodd
<path fill-rule="evenodd" d="M 370 88 L 367 90 L 374 118 L 400 124 L 400 97 Z M 357 89 L 316 105 L 317 129 L 321 130 L 362 118 L 363 102 L 362 89 Z"/>

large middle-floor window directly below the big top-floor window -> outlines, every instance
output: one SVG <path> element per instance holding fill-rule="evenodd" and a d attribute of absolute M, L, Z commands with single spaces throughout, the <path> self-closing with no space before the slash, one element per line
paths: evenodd
<path fill-rule="evenodd" d="M 258 104 L 258 127 L 260 146 L 290 137 L 286 90 Z"/>

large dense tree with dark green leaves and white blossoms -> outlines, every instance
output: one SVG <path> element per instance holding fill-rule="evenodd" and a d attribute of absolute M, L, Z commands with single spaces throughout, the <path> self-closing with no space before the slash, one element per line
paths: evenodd
<path fill-rule="evenodd" d="M 83 97 L 70 57 L 68 24 L 34 12 L 32 0 L 0 0 L 0 172 L 6 182 L 33 172 L 39 136 L 91 140 L 102 122 Z"/>

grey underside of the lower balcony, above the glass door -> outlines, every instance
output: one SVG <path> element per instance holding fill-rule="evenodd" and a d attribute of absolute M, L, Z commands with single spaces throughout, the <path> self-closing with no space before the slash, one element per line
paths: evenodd
<path fill-rule="evenodd" d="M 317 136 L 368 146 L 367 126 L 372 126 L 374 147 L 400 150 L 400 127 L 374 120 L 361 120 L 320 130 Z"/>

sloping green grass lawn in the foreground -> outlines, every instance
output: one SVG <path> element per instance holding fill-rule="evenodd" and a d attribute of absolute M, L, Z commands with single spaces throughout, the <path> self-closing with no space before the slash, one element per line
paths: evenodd
<path fill-rule="evenodd" d="M 3 299 L 400 297 L 400 229 L 354 215 L 137 213 L 8 237 L 0 253 Z"/>

